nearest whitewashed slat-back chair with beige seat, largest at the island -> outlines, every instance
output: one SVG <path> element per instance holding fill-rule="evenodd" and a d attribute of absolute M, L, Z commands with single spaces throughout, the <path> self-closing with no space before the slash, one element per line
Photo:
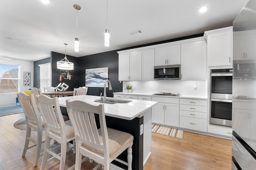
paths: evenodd
<path fill-rule="evenodd" d="M 128 149 L 128 170 L 132 170 L 133 136 L 129 133 L 106 127 L 104 104 L 92 105 L 88 102 L 66 100 L 68 116 L 74 127 L 76 137 L 76 164 L 75 169 L 81 168 L 82 155 L 86 156 L 104 170 L 109 170 L 110 162 L 116 159 L 124 150 Z M 99 114 L 100 129 L 97 128 L 94 113 Z"/>

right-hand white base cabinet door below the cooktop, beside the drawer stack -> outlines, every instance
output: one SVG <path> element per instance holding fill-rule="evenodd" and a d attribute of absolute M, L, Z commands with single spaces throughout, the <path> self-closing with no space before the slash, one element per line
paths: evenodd
<path fill-rule="evenodd" d="M 165 104 L 165 125 L 179 127 L 179 104 Z"/>

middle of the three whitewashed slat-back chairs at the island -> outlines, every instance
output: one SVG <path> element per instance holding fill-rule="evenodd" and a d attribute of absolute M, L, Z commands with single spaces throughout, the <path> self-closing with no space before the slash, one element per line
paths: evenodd
<path fill-rule="evenodd" d="M 37 96 L 37 104 L 45 122 L 45 148 L 41 170 L 44 170 L 48 154 L 60 160 L 60 170 L 64 170 L 66 152 L 74 149 L 75 135 L 70 120 L 65 121 L 60 111 L 58 98 L 50 98 L 44 94 Z M 55 148 L 50 148 L 50 139 L 60 143 L 60 155 L 54 152 Z M 73 146 L 68 147 L 68 143 L 73 141 Z"/>

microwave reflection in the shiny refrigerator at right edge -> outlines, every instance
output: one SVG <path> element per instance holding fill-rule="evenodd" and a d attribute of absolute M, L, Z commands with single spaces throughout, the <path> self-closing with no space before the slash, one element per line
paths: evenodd
<path fill-rule="evenodd" d="M 234 60 L 233 61 L 234 78 L 256 78 L 256 60 Z"/>

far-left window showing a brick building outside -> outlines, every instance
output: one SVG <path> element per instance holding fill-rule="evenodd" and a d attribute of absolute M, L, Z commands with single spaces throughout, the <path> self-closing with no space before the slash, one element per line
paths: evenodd
<path fill-rule="evenodd" d="M 19 92 L 19 69 L 18 65 L 0 63 L 0 93 Z"/>

